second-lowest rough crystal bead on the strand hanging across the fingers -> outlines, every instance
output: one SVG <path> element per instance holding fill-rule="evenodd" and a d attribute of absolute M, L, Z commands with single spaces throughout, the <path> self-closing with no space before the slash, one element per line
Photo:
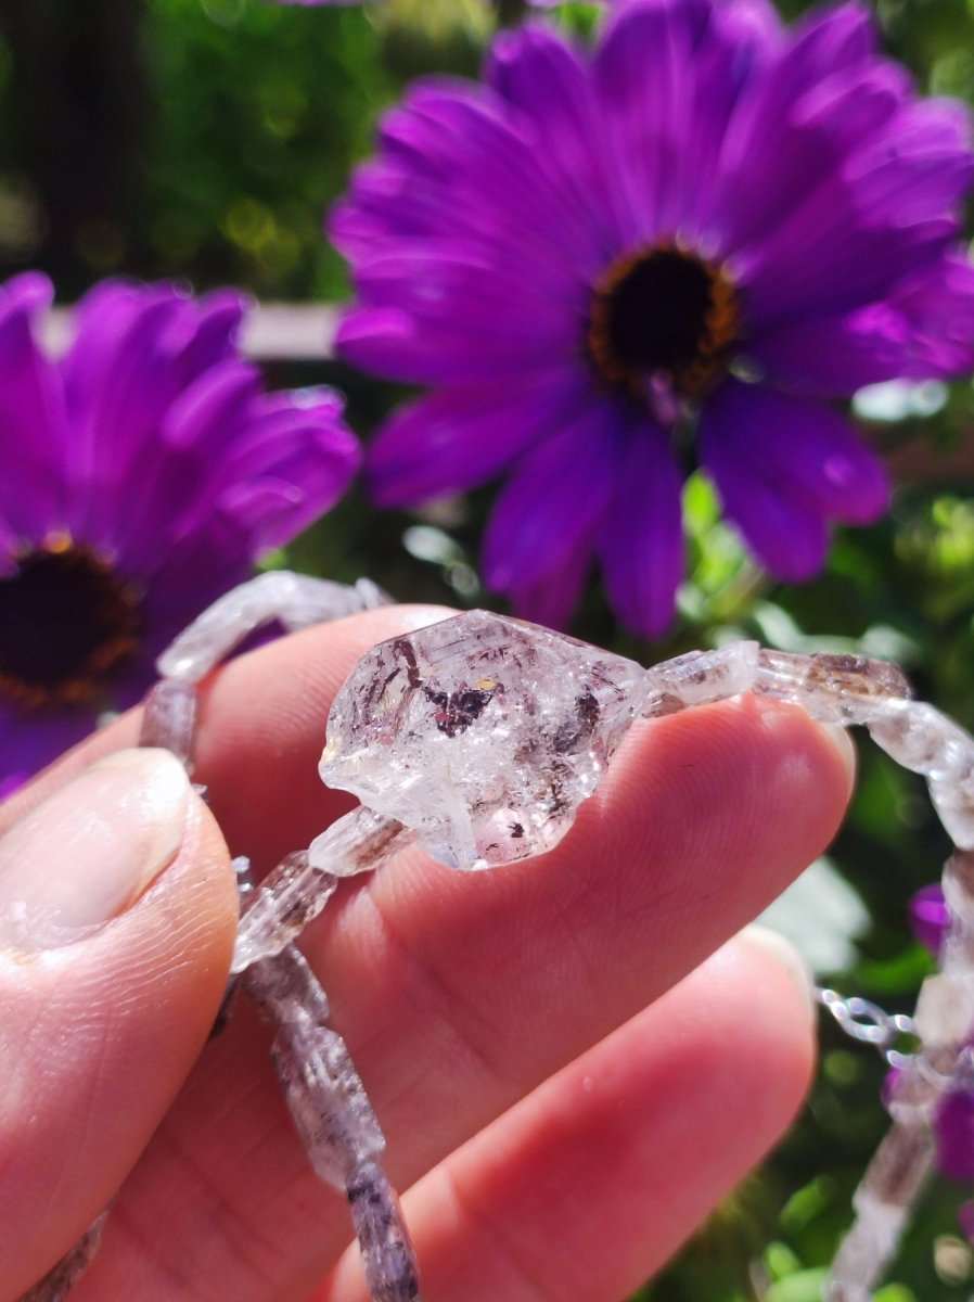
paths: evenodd
<path fill-rule="evenodd" d="M 328 1027 L 299 1022 L 281 1027 L 271 1052 L 315 1173 L 344 1189 L 349 1174 L 385 1147 L 345 1042 Z"/>

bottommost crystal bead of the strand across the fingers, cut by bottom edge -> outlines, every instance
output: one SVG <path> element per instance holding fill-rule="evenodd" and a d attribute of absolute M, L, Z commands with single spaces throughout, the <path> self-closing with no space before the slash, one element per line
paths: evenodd
<path fill-rule="evenodd" d="M 348 1182 L 348 1200 L 375 1302 L 419 1302 L 415 1251 L 396 1190 L 382 1167 L 365 1161 Z"/>

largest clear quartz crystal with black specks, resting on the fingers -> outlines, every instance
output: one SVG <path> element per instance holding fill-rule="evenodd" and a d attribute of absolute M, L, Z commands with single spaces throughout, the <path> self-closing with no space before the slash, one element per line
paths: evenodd
<path fill-rule="evenodd" d="M 523 859 L 557 844 L 598 785 L 645 674 L 517 620 L 456 616 L 359 661 L 332 706 L 322 779 L 453 867 Z"/>

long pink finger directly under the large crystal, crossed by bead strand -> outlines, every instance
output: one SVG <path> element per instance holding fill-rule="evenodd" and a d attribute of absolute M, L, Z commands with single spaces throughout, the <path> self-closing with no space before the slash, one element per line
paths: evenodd
<path fill-rule="evenodd" d="M 849 783 L 829 733 L 745 698 L 639 727 L 548 855 L 470 876 L 417 853 L 346 884 L 307 950 L 393 1176 L 415 1180 L 753 917 L 820 852 Z M 286 824 L 286 801 L 273 812 Z M 203 1295 L 221 1281 L 279 1302 L 341 1249 L 342 1208 L 307 1170 L 263 1053 L 246 1017 L 207 1051 L 129 1181 L 92 1298 L 135 1280 L 169 1302 L 160 1262 L 178 1242 Z"/>

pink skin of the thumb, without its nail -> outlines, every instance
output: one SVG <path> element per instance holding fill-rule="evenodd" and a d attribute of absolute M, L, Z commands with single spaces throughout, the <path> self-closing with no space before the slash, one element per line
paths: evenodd
<path fill-rule="evenodd" d="M 0 1295 L 39 1279 L 138 1160 L 210 1034 L 236 918 L 227 848 L 191 794 L 178 853 L 128 909 L 0 957 Z"/>

